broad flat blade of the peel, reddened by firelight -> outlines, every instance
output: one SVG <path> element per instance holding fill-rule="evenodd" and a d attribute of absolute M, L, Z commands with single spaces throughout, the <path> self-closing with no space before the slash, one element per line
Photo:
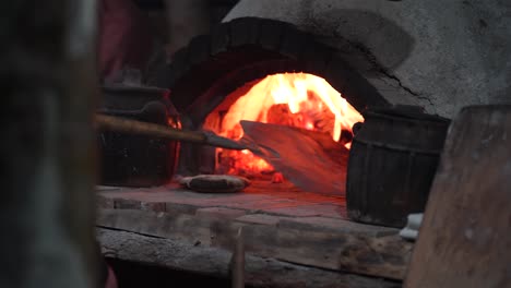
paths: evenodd
<path fill-rule="evenodd" d="M 240 121 L 245 144 L 254 155 L 271 164 L 304 191 L 343 195 L 346 184 L 347 149 L 331 137 L 314 135 L 288 125 Z M 332 143 L 331 143 L 332 142 Z M 344 157 L 329 152 L 337 146 Z"/>

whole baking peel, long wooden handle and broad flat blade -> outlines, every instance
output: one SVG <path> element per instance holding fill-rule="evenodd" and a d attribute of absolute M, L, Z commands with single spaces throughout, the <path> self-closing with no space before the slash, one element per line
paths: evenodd
<path fill-rule="evenodd" d="M 316 135 L 314 132 L 243 120 L 240 123 L 245 135 L 236 142 L 213 132 L 182 131 L 115 116 L 97 115 L 96 122 L 102 130 L 186 141 L 227 149 L 249 149 L 305 191 L 344 194 L 346 175 L 344 159 L 341 157 L 332 159 L 330 155 L 331 151 L 335 149 L 341 149 L 342 154 L 345 148 L 329 136 L 324 137 L 318 133 Z"/>

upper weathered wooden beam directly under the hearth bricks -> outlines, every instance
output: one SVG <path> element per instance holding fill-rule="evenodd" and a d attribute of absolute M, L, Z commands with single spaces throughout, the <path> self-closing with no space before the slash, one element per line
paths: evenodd
<path fill-rule="evenodd" d="M 270 216 L 270 215 L 268 215 Z M 412 244 L 396 229 L 336 220 L 331 229 L 276 220 L 273 225 L 170 215 L 135 209 L 102 209 L 97 225 L 205 247 L 230 249 L 243 227 L 247 253 L 333 271 L 403 279 Z"/>

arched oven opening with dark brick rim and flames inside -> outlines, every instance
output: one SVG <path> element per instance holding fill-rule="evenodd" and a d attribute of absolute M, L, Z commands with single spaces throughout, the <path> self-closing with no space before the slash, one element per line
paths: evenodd
<path fill-rule="evenodd" d="M 364 121 L 364 109 L 389 104 L 340 53 L 288 23 L 237 19 L 176 52 L 153 85 L 171 91 L 187 130 L 238 140 L 243 135 L 239 122 L 249 120 L 314 132 L 316 140 L 328 135 L 338 144 L 326 154 L 344 167 L 338 175 L 343 193 L 352 125 Z M 299 140 L 288 144 L 301 145 Z M 271 183 L 282 180 L 280 172 L 248 151 L 181 144 L 181 176 L 229 173 Z"/>

